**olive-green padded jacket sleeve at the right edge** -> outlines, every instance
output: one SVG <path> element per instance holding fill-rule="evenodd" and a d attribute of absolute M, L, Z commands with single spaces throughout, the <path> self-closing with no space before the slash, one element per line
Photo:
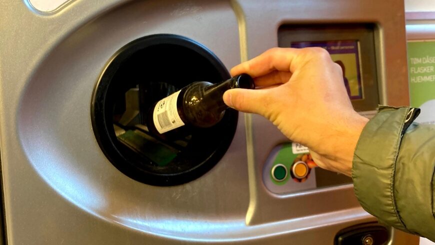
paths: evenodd
<path fill-rule="evenodd" d="M 418 109 L 380 107 L 353 155 L 362 207 L 380 222 L 435 240 L 435 125 L 411 123 Z"/>

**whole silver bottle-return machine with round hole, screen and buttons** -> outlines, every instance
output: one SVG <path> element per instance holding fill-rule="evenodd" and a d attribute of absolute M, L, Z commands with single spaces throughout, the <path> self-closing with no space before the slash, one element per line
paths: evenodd
<path fill-rule="evenodd" d="M 367 117 L 408 104 L 400 1 L 39 4 L 0 6 L 3 243 L 417 244 L 258 115 L 146 125 L 157 100 L 275 46 L 328 50 Z"/>

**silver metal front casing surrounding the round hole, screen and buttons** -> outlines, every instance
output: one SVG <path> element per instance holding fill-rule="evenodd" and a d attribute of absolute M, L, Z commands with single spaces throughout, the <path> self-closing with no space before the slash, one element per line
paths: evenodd
<path fill-rule="evenodd" d="M 339 10 L 337 9 L 339 6 Z M 0 6 L 0 135 L 8 244 L 332 244 L 375 221 L 351 184 L 276 194 L 262 181 L 288 141 L 258 115 L 239 114 L 223 158 L 176 186 L 135 181 L 104 156 L 91 128 L 92 89 L 136 38 L 179 34 L 229 69 L 277 46 L 282 24 L 376 23 L 379 98 L 408 103 L 403 5 L 395 0 L 70 0 L 41 12 Z M 415 244 L 395 230 L 389 244 Z"/>

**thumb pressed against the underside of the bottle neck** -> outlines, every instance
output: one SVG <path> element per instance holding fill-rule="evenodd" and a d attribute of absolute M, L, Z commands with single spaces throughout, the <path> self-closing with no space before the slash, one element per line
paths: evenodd
<path fill-rule="evenodd" d="M 248 113 L 263 114 L 267 99 L 266 89 L 233 88 L 223 94 L 223 102 L 229 107 Z"/>

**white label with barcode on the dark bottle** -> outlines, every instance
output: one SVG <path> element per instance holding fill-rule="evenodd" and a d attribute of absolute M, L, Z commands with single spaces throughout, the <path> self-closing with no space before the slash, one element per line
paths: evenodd
<path fill-rule="evenodd" d="M 181 90 L 157 102 L 152 113 L 155 128 L 159 133 L 167 132 L 184 125 L 176 108 L 176 100 Z"/>

